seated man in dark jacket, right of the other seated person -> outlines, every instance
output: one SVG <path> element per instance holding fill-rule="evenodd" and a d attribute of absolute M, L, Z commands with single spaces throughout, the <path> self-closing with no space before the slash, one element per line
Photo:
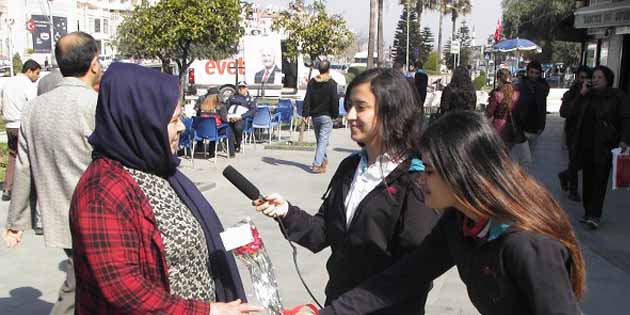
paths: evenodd
<path fill-rule="evenodd" d="M 230 96 L 228 99 L 227 119 L 234 131 L 234 149 L 241 152 L 241 141 L 243 140 L 243 129 L 245 129 L 245 119 L 254 117 L 256 104 L 249 95 L 247 83 L 238 83 L 238 94 Z"/>

